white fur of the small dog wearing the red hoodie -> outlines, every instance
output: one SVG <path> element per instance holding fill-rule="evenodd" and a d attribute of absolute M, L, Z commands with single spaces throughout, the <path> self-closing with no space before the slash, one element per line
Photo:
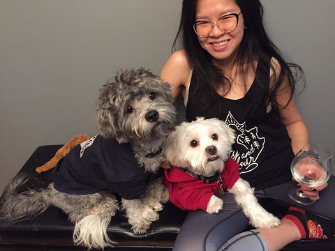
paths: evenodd
<path fill-rule="evenodd" d="M 214 134 L 218 136 L 217 139 L 212 137 Z M 191 123 L 184 122 L 177 126 L 165 140 L 163 149 L 165 157 L 174 167 L 184 169 L 195 176 L 210 177 L 223 171 L 234 139 L 234 130 L 224 121 L 198 118 Z M 216 150 L 208 151 L 213 148 Z M 254 227 L 267 228 L 280 224 L 278 218 L 258 204 L 253 195 L 253 188 L 244 179 L 239 177 L 228 191 L 234 194 L 237 204 Z M 222 208 L 223 200 L 211 195 L 207 212 L 218 213 Z"/>

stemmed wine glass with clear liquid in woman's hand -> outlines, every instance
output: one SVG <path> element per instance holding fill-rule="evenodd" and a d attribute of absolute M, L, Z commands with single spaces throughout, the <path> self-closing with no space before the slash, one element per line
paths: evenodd
<path fill-rule="evenodd" d="M 306 144 L 291 162 L 292 176 L 308 188 L 323 185 L 332 174 L 331 158 L 332 154 L 319 144 Z M 288 195 L 299 204 L 308 205 L 314 202 L 300 193 L 296 185 L 288 190 Z"/>

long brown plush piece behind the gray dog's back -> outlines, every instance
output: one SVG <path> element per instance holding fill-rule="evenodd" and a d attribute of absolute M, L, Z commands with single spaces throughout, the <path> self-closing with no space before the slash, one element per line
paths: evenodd
<path fill-rule="evenodd" d="M 88 135 L 77 135 L 70 139 L 68 143 L 66 143 L 64 146 L 59 149 L 54 157 L 46 162 L 43 166 L 37 167 L 36 172 L 40 174 L 41 172 L 46 172 L 47 170 L 50 170 L 54 167 L 56 167 L 57 162 L 63 158 L 68 152 L 73 149 L 73 147 L 77 146 L 78 144 L 87 141 L 87 139 L 91 139 Z"/>

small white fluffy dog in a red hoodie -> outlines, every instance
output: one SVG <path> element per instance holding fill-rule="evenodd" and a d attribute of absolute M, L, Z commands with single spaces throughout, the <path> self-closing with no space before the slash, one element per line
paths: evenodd
<path fill-rule="evenodd" d="M 215 194 L 228 188 L 253 227 L 278 226 L 280 220 L 258 204 L 253 188 L 239 177 L 239 165 L 228 155 L 234 139 L 234 130 L 218 119 L 177 126 L 163 146 L 171 165 L 164 181 L 170 200 L 183 210 L 218 213 L 223 200 Z"/>

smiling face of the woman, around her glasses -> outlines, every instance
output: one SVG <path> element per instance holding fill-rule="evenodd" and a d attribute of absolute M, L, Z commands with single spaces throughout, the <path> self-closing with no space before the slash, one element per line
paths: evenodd
<path fill-rule="evenodd" d="M 216 22 L 224 15 L 237 13 L 241 9 L 234 0 L 198 0 L 195 8 L 195 22 L 207 21 Z M 225 33 L 218 29 L 216 24 L 212 24 L 211 33 L 207 38 L 198 36 L 200 45 L 211 54 L 214 63 L 230 63 L 234 61 L 239 45 L 244 36 L 244 19 L 242 13 L 239 14 L 239 21 L 230 33 Z"/>

